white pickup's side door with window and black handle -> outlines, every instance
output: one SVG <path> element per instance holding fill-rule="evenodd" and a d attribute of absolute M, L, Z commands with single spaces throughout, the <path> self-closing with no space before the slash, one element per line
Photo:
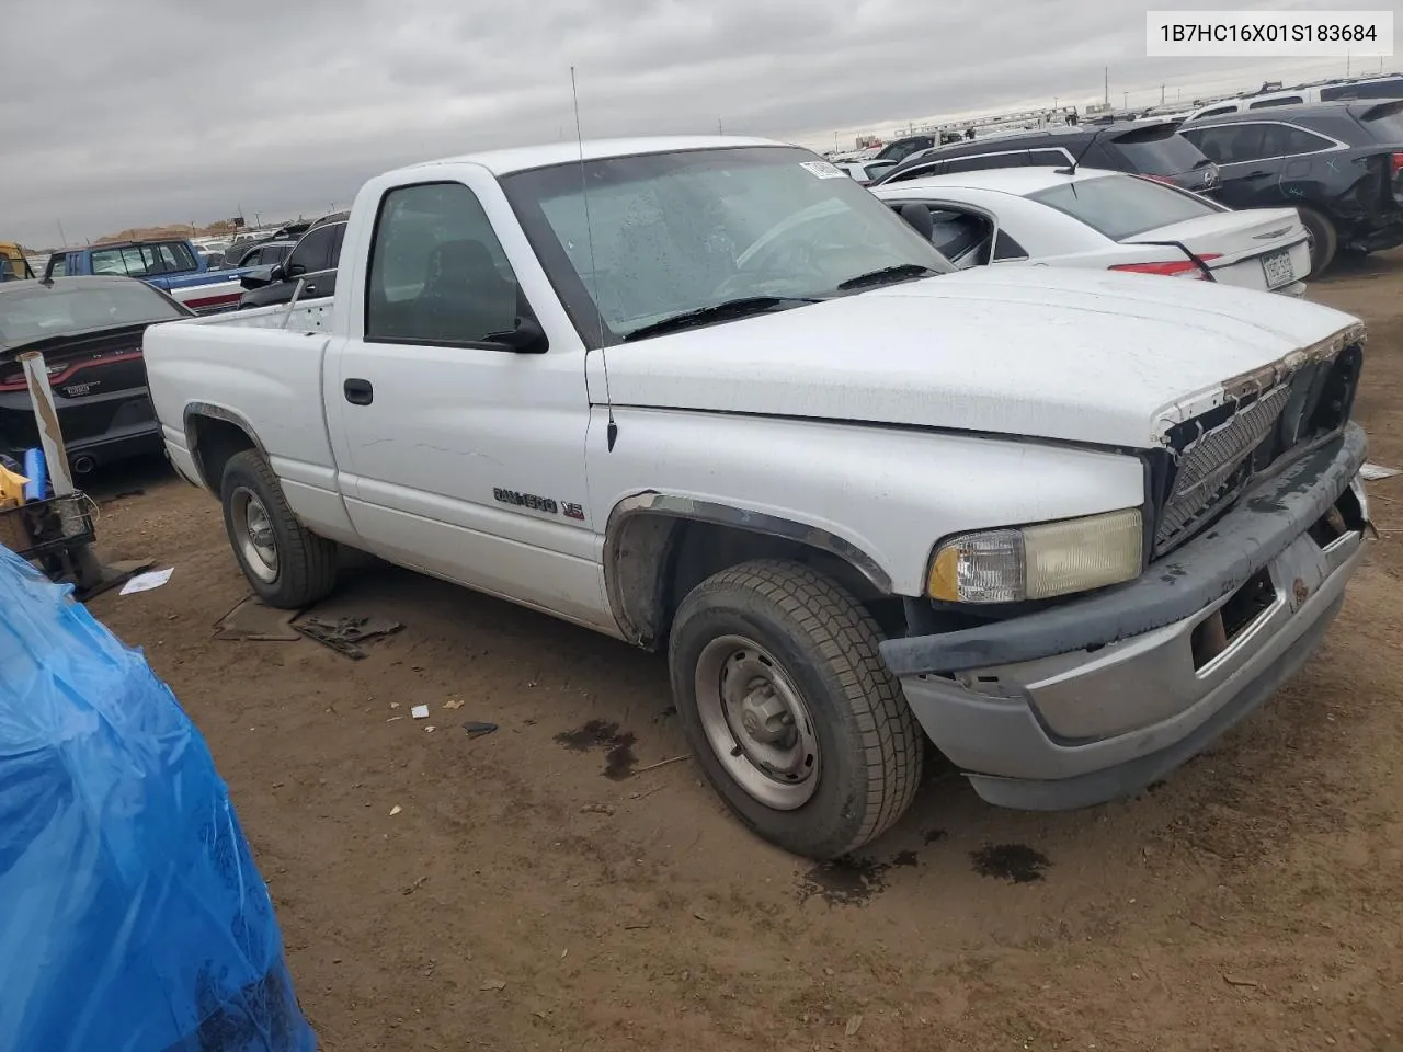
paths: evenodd
<path fill-rule="evenodd" d="M 397 562 L 612 627 L 585 511 L 584 348 L 491 338 L 535 314 L 528 288 L 550 295 L 535 258 L 513 267 L 478 192 L 436 181 L 386 191 L 368 265 L 341 262 L 352 317 L 325 397 L 356 532 Z"/>

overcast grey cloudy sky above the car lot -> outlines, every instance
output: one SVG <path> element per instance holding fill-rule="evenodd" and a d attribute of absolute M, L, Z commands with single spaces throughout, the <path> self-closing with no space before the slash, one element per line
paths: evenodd
<path fill-rule="evenodd" d="M 1156 8 L 1357 10 L 1358 0 Z M 574 135 L 810 146 L 927 115 L 1191 95 L 1341 62 L 1146 59 L 1125 0 L 0 0 L 0 238 L 345 208 L 398 164 Z M 1360 63 L 1357 63 L 1358 66 Z M 1393 69 L 1395 62 L 1388 62 Z M 1338 69 L 1336 69 L 1338 67 Z M 1368 60 L 1369 69 L 1378 59 Z M 1226 83 L 1225 83 L 1226 77 Z M 1299 77 L 1298 77 L 1299 79 Z"/>

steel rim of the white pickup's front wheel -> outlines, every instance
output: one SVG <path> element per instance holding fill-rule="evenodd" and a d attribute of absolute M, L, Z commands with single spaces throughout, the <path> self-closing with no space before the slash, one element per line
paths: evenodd
<path fill-rule="evenodd" d="M 753 800 L 776 811 L 818 790 L 814 718 L 794 680 L 744 635 L 711 640 L 696 663 L 697 715 L 711 752 Z"/>

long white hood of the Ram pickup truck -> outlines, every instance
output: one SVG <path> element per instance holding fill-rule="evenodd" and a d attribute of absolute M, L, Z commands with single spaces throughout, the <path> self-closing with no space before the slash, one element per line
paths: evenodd
<path fill-rule="evenodd" d="M 1347 331 L 1360 320 L 1211 282 L 982 267 L 612 346 L 607 383 L 615 405 L 1145 449 L 1225 382 Z M 605 401 L 600 355 L 588 376 Z"/>

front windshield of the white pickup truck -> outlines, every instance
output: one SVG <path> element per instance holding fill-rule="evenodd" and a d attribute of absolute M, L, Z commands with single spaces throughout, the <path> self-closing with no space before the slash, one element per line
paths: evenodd
<path fill-rule="evenodd" d="M 902 268 L 885 281 L 911 281 L 951 269 L 856 181 L 797 147 L 610 157 L 502 187 L 589 344 L 745 297 L 853 295 L 839 286 L 874 271 Z"/>

